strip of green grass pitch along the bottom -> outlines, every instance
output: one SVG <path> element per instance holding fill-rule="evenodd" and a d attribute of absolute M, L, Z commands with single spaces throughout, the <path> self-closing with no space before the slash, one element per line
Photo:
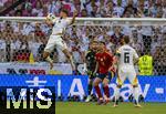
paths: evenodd
<path fill-rule="evenodd" d="M 55 114 L 166 114 L 166 103 L 142 103 L 142 106 L 138 108 L 132 103 L 121 103 L 114 108 L 113 103 L 56 102 Z"/>

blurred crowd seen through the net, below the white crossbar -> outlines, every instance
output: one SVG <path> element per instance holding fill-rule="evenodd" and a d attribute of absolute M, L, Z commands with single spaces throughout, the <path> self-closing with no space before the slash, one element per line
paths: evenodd
<path fill-rule="evenodd" d="M 44 61 L 42 54 L 50 33 L 51 28 L 45 23 L 1 22 L 0 62 L 29 62 L 30 54 L 33 55 L 35 62 Z M 124 35 L 131 37 L 131 45 L 137 50 L 139 55 L 153 56 L 156 70 L 165 70 L 166 25 L 77 24 L 68 28 L 63 39 L 75 63 L 83 63 L 91 40 L 105 41 L 107 50 L 115 53 Z M 54 49 L 51 58 L 54 59 L 54 62 L 68 62 L 58 48 Z"/>

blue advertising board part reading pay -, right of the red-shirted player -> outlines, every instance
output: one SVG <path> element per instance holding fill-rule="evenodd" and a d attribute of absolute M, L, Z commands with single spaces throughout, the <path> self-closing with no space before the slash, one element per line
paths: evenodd
<path fill-rule="evenodd" d="M 115 81 L 110 84 L 112 97 L 115 91 Z M 145 97 L 145 102 L 166 102 L 166 76 L 138 76 L 139 94 Z M 132 94 L 133 87 L 126 80 L 121 89 L 121 96 L 124 101 L 128 100 L 128 95 Z"/>

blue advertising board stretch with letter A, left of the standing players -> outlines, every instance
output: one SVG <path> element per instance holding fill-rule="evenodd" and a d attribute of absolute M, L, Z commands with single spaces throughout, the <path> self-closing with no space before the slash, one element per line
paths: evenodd
<path fill-rule="evenodd" d="M 0 86 L 55 86 L 56 96 L 83 96 L 87 90 L 85 75 L 0 75 Z"/>

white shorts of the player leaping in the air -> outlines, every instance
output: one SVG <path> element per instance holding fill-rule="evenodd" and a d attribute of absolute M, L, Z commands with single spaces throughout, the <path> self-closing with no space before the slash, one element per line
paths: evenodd
<path fill-rule="evenodd" d="M 61 35 L 50 35 L 44 51 L 52 52 L 55 46 L 62 51 L 68 49 L 66 43 L 62 40 Z"/>

